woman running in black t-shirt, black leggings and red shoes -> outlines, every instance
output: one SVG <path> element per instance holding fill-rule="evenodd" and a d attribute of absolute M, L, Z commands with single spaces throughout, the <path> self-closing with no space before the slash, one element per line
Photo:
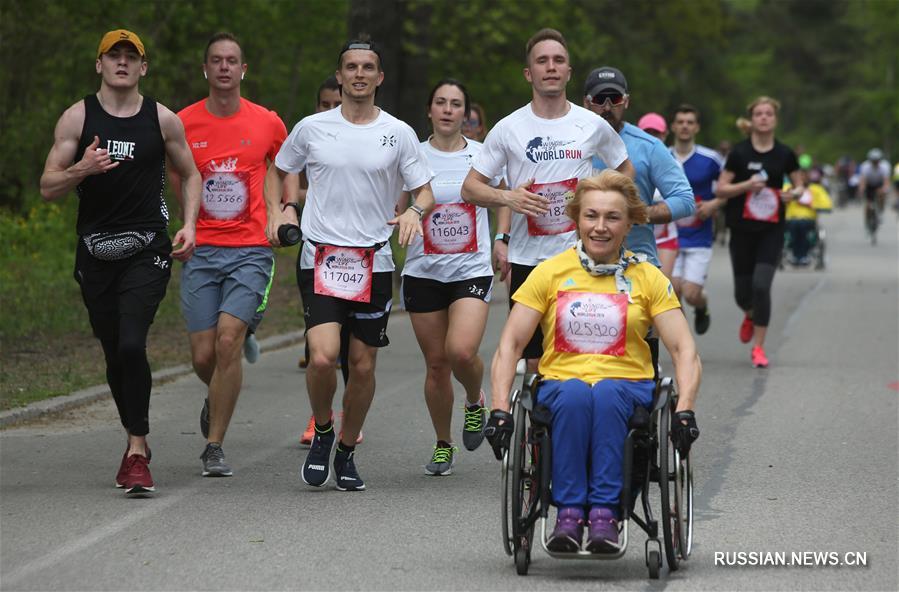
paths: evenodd
<path fill-rule="evenodd" d="M 771 319 L 771 285 L 783 251 L 784 202 L 805 192 L 796 154 L 774 138 L 780 103 L 759 97 L 747 107 L 749 138 L 734 145 L 715 196 L 726 200 L 734 295 L 745 316 L 740 341 L 753 342 L 750 359 L 768 367 L 765 335 Z M 781 191 L 785 176 L 793 189 Z"/>

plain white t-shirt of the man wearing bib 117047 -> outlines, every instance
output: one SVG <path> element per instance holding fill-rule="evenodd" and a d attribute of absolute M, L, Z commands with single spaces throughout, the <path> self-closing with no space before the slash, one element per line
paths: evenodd
<path fill-rule="evenodd" d="M 275 157 L 282 171 L 306 169 L 309 191 L 303 208 L 303 238 L 327 245 L 370 247 L 387 242 L 387 221 L 403 186 L 417 189 L 434 174 L 412 128 L 381 111 L 364 125 L 344 119 L 340 109 L 303 118 Z M 314 249 L 303 242 L 302 269 L 312 269 Z M 375 255 L 375 272 L 393 271 L 390 243 Z"/>

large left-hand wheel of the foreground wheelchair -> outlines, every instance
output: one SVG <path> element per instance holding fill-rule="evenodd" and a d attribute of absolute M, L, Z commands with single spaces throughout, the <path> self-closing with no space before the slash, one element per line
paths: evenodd
<path fill-rule="evenodd" d="M 522 405 L 512 410 L 515 431 L 512 435 L 511 450 L 511 509 L 510 524 L 512 526 L 512 548 L 515 554 L 515 569 L 519 575 L 528 572 L 531 562 L 531 548 L 534 541 L 534 523 L 524 527 L 531 514 L 531 509 L 538 503 L 540 496 L 540 480 L 537 466 L 533 462 L 531 447 L 528 444 L 527 412 Z"/>

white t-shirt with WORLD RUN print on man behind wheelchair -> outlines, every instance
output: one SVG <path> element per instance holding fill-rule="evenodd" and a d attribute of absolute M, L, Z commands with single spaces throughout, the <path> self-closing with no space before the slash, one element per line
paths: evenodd
<path fill-rule="evenodd" d="M 509 188 L 534 179 L 537 184 L 568 182 L 568 189 L 580 179 L 593 175 L 593 156 L 599 156 L 612 168 L 627 159 L 621 137 L 599 115 L 569 102 L 564 117 L 537 117 L 528 103 L 497 123 L 484 140 L 484 149 L 472 167 L 486 177 L 497 177 L 506 167 Z M 564 199 L 557 196 L 549 216 L 558 223 L 564 218 Z M 546 218 L 541 216 L 540 218 Z M 529 224 L 529 219 L 531 224 Z M 535 266 L 575 243 L 574 230 L 552 234 L 538 230 L 536 219 L 512 212 L 509 261 Z"/>

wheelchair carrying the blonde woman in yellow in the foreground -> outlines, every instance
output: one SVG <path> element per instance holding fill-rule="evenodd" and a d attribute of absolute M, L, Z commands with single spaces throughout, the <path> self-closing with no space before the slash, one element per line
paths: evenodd
<path fill-rule="evenodd" d="M 624 446 L 619 548 L 614 553 L 590 553 L 583 549 L 559 553 L 547 548 L 552 534 L 549 519 L 552 417 L 548 408 L 536 403 L 538 385 L 539 376 L 529 374 L 524 377 L 522 388 L 512 393 L 514 432 L 502 460 L 503 546 L 506 554 L 514 558 L 518 575 L 528 573 L 532 552 L 538 544 L 551 557 L 559 559 L 619 559 L 627 551 L 632 521 L 648 537 L 644 550 L 650 579 L 659 577 L 663 546 L 669 570 L 677 570 L 693 549 L 693 468 L 690 455 L 682 457 L 668 437 L 677 404 L 674 381 L 668 377 L 657 380 L 651 411 L 640 407 L 630 420 Z M 653 516 L 650 503 L 653 483 L 658 484 L 660 493 L 661 541 L 659 522 Z M 636 508 L 638 498 L 639 509 Z M 539 543 L 534 542 L 535 535 Z"/>

